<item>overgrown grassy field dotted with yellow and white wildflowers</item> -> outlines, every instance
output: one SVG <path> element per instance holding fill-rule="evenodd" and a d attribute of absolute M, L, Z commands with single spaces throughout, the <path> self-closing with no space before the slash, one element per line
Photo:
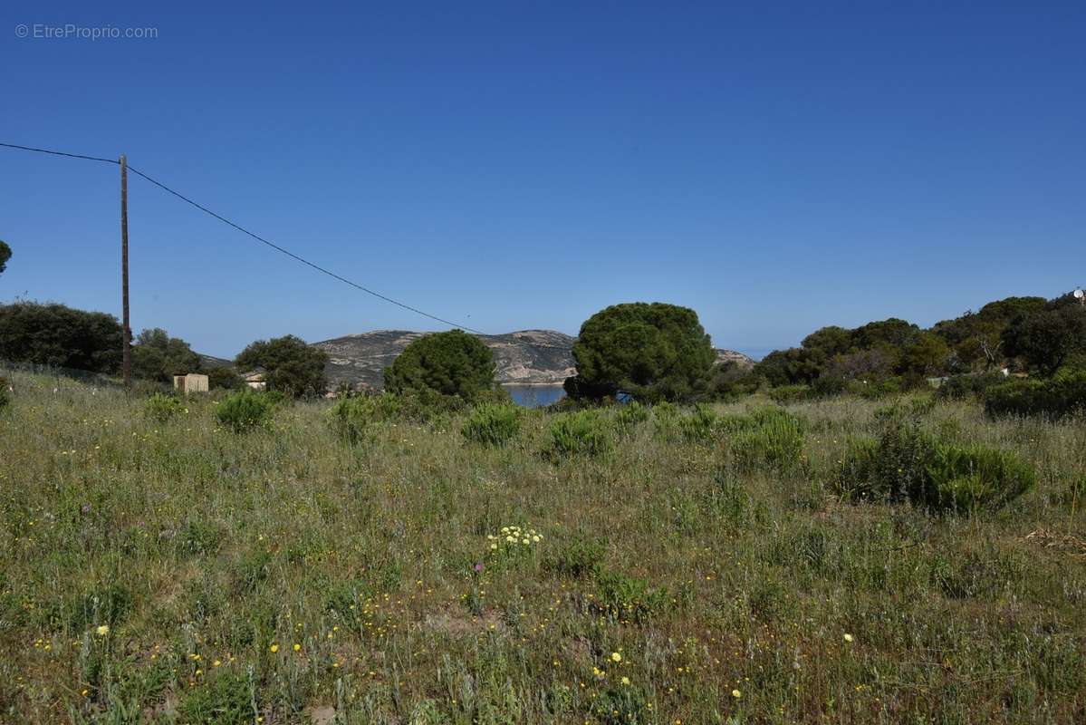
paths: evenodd
<path fill-rule="evenodd" d="M 906 401 L 1037 475 L 939 515 L 839 495 L 885 402 L 791 407 L 783 455 L 611 409 L 574 452 L 543 412 L 504 446 L 465 415 L 351 443 L 326 403 L 236 434 L 210 399 L 159 422 L 11 379 L 4 722 L 1086 722 L 1082 422 Z"/>

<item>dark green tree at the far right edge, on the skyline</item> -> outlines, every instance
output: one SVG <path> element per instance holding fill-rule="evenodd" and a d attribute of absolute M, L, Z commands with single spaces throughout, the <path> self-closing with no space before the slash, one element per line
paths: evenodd
<path fill-rule="evenodd" d="M 1051 375 L 1072 355 L 1086 352 L 1086 308 L 1066 297 L 1015 317 L 1002 335 L 1007 354 Z"/>

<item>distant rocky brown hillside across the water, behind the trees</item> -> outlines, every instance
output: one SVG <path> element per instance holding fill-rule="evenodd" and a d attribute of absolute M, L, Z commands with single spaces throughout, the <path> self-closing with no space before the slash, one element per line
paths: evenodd
<path fill-rule="evenodd" d="M 379 388 L 382 371 L 392 364 L 407 345 L 426 333 L 384 329 L 346 335 L 314 342 L 328 352 L 326 368 L 329 387 L 358 382 Z M 560 385 L 573 374 L 573 341 L 576 338 L 551 329 L 525 329 L 506 335 L 480 335 L 494 351 L 497 380 L 503 384 Z M 736 362 L 743 367 L 754 361 L 741 352 L 717 350 L 719 362 Z"/>

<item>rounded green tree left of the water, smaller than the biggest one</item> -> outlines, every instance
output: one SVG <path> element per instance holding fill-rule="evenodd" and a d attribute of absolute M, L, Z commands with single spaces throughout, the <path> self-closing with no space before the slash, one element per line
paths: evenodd
<path fill-rule="evenodd" d="M 392 392 L 437 392 L 475 402 L 493 387 L 494 353 L 460 329 L 415 340 L 384 368 L 384 388 Z"/>

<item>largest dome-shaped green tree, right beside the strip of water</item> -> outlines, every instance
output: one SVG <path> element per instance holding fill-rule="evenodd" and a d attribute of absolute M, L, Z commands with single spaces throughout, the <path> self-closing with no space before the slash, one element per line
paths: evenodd
<path fill-rule="evenodd" d="M 707 384 L 716 352 L 689 308 L 662 302 L 615 304 L 589 317 L 573 343 L 572 398 L 624 392 L 635 399 L 689 400 Z"/>

